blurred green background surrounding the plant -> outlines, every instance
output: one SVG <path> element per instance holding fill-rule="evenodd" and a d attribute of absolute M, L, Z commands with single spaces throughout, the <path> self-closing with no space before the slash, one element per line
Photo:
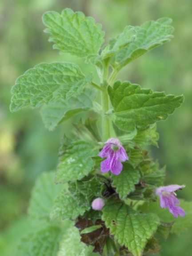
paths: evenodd
<path fill-rule="evenodd" d="M 25 214 L 36 177 L 55 168 L 60 136 L 45 130 L 36 111 L 9 112 L 10 88 L 35 64 L 70 60 L 48 43 L 41 22 L 43 12 L 64 8 L 83 11 L 103 24 L 106 39 L 125 25 L 167 16 L 173 19 L 175 38 L 124 68 L 119 77 L 145 88 L 184 94 L 185 102 L 166 122 L 158 123 L 159 149 L 152 148 L 167 166 L 167 184 L 186 184 L 180 196 L 192 200 L 192 1 L 191 0 L 0 0 L 0 256 L 12 256 L 24 234 Z M 159 256 L 189 256 L 192 230 L 170 236 Z"/>

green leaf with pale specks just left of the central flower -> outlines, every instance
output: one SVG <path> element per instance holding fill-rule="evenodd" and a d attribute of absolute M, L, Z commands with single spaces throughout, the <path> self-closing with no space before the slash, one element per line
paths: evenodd
<path fill-rule="evenodd" d="M 75 181 L 87 176 L 94 167 L 92 157 L 97 156 L 98 152 L 94 144 L 85 141 L 68 145 L 57 167 L 57 182 Z"/>

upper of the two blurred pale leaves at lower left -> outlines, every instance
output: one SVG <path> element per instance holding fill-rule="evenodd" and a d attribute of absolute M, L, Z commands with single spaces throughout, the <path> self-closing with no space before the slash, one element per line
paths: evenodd
<path fill-rule="evenodd" d="M 65 185 L 54 184 L 55 172 L 40 175 L 32 190 L 28 214 L 34 220 L 49 220 L 54 200 Z"/>

